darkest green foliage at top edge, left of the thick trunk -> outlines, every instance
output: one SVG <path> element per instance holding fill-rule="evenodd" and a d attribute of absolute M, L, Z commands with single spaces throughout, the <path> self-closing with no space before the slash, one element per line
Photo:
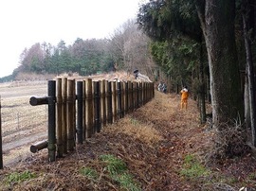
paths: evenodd
<path fill-rule="evenodd" d="M 137 14 L 139 28 L 156 41 L 182 34 L 199 41 L 202 35 L 195 4 L 188 0 L 150 1 Z"/>

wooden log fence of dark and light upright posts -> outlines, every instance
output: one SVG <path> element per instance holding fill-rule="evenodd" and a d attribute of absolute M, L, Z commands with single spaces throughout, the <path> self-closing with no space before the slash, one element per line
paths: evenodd
<path fill-rule="evenodd" d="M 47 85 L 48 96 L 32 96 L 29 103 L 48 105 L 48 138 L 32 145 L 30 151 L 48 148 L 50 162 L 155 96 L 153 82 L 57 78 Z"/>

